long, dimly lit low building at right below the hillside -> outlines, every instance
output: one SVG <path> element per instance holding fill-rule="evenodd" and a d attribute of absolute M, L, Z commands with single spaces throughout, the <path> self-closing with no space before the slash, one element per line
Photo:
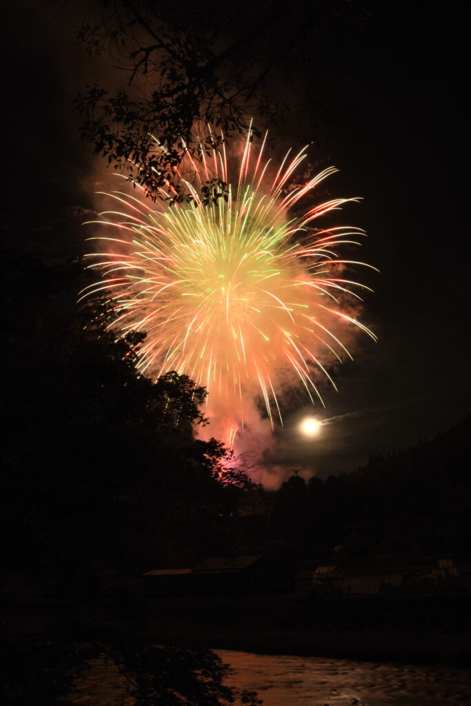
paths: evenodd
<path fill-rule="evenodd" d="M 449 590 L 460 572 L 451 558 L 431 554 L 339 555 L 317 566 L 311 588 L 327 594 Z"/>

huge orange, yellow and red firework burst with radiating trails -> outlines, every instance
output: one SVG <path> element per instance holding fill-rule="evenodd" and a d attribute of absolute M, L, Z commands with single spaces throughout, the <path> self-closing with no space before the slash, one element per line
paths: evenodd
<path fill-rule="evenodd" d="M 149 211 L 147 203 L 122 191 L 109 194 L 117 210 L 100 214 L 95 223 L 112 231 L 94 238 L 104 247 L 88 256 L 102 280 L 83 294 L 107 294 L 112 327 L 123 335 L 131 329 L 147 333 L 139 351 L 142 373 L 176 370 L 205 385 L 210 407 L 225 417 L 230 445 L 257 395 L 272 426 L 274 414 L 282 421 L 277 390 L 285 371 L 295 374 L 313 402 L 321 400 L 319 371 L 335 387 L 326 365 L 350 355 L 339 337 L 342 327 L 353 325 L 376 338 L 345 304 L 360 299 L 357 287 L 369 289 L 343 276 L 351 265 L 365 263 L 337 255 L 341 245 L 358 245 L 364 232 L 314 227 L 319 217 L 355 199 L 293 213 L 337 170 L 324 169 L 289 190 L 306 150 L 292 160 L 288 152 L 273 179 L 263 145 L 258 155 L 254 151 L 249 133 L 235 186 L 229 183 L 209 203 L 202 187 L 214 177 L 229 181 L 225 150 L 212 157 L 202 151 L 201 167 L 190 158 L 193 178 L 182 179 L 191 197 L 185 203 L 162 202 Z M 162 196 L 169 193 L 162 190 Z"/>

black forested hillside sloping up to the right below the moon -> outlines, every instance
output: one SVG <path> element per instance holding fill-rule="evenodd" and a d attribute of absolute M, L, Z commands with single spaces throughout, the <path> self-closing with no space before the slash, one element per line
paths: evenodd
<path fill-rule="evenodd" d="M 350 474 L 297 475 L 276 493 L 270 532 L 305 554 L 432 551 L 470 554 L 471 419 L 431 441 L 371 457 Z"/>

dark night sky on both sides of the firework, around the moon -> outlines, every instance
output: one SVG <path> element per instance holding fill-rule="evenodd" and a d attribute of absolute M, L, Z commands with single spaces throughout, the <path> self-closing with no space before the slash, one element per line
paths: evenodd
<path fill-rule="evenodd" d="M 443 16 L 422 3 L 386 5 L 346 46 L 333 40 L 332 79 L 351 108 L 314 145 L 340 168 L 332 193 L 364 198 L 347 215 L 369 234 L 362 258 L 381 270 L 362 274 L 375 289 L 363 321 L 379 342 L 365 338 L 338 371 L 326 410 L 302 396 L 292 403 L 273 454 L 286 469 L 351 470 L 470 412 L 463 18 L 453 7 Z M 80 224 L 109 179 L 81 143 L 73 107 L 85 83 L 112 76 L 73 44 L 81 14 L 78 4 L 54 13 L 19 2 L 4 18 L 3 232 L 46 261 L 85 251 Z M 277 128 L 288 142 L 296 129 L 294 118 Z M 306 414 L 330 419 L 309 440 L 297 429 Z"/>

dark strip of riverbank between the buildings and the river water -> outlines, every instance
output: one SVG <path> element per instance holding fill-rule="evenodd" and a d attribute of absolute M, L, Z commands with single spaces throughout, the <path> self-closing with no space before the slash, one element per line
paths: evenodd
<path fill-rule="evenodd" d="M 108 624 L 161 644 L 407 664 L 471 663 L 469 596 L 246 597 L 13 602 L 17 632 Z"/>

